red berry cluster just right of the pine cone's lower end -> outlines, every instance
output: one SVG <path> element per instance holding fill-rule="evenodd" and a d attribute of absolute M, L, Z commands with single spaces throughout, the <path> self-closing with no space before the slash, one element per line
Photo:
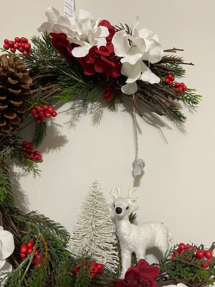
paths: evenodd
<path fill-rule="evenodd" d="M 57 113 L 53 106 L 33 106 L 30 114 L 35 118 L 36 123 L 44 122 L 46 118 L 56 117 Z"/>

